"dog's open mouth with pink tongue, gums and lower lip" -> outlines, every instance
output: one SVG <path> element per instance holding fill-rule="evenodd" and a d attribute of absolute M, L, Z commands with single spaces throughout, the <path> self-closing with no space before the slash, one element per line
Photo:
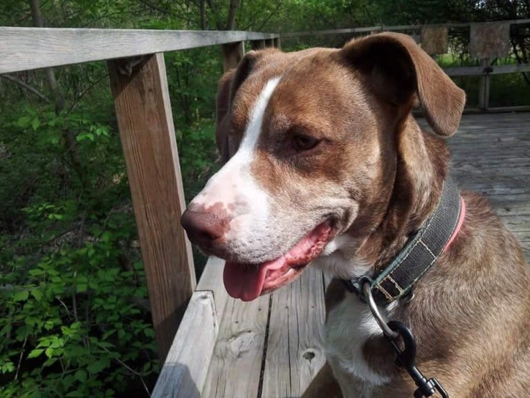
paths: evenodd
<path fill-rule="evenodd" d="M 284 255 L 262 264 L 241 264 L 227 261 L 223 271 L 226 291 L 233 298 L 254 300 L 284 284 L 292 282 L 307 264 L 322 253 L 332 228 L 327 222 L 319 224 Z"/>

